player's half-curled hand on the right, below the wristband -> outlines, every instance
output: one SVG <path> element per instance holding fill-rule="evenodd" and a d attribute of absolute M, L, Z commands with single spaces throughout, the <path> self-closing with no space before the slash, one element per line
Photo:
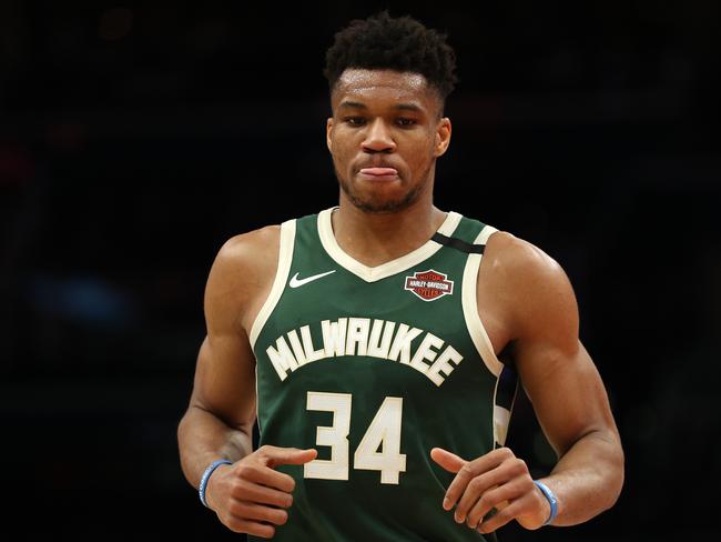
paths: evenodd
<path fill-rule="evenodd" d="M 466 461 L 441 448 L 430 458 L 456 474 L 443 502 L 445 510 L 456 505 L 455 519 L 470 529 L 489 533 L 516 520 L 526 529 L 538 529 L 550 514 L 550 505 L 534 483 L 524 460 L 508 448 L 499 448 Z M 486 516 L 492 509 L 497 513 Z"/>

